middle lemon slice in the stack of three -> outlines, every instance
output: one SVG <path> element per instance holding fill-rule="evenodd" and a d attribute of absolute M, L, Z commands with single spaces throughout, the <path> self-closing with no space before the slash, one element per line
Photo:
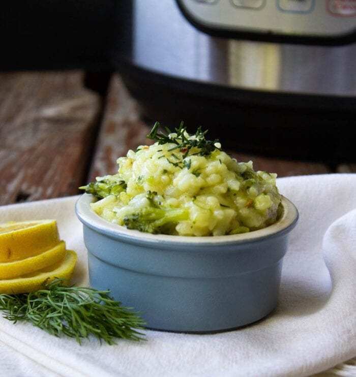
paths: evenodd
<path fill-rule="evenodd" d="M 0 263 L 0 279 L 11 279 L 26 273 L 41 270 L 60 262 L 66 255 L 66 242 L 61 241 L 56 246 L 35 257 L 21 261 Z"/>

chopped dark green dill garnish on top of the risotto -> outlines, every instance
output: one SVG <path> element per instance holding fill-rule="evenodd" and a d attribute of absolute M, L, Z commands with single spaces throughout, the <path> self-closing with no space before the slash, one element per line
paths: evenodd
<path fill-rule="evenodd" d="M 207 130 L 202 131 L 201 127 L 197 129 L 194 138 L 189 137 L 190 135 L 187 133 L 187 128 L 184 127 L 183 121 L 181 122 L 179 128 L 174 129 L 176 133 L 176 136 L 174 137 L 169 137 L 172 132 L 168 127 L 165 127 L 168 135 L 165 135 L 161 131 L 159 132 L 159 127 L 160 123 L 156 122 L 149 135 L 147 135 L 147 138 L 158 142 L 159 145 L 167 143 L 175 144 L 173 147 L 168 149 L 168 152 L 172 152 L 173 150 L 180 150 L 183 153 L 183 160 L 180 162 L 182 166 L 180 167 L 186 167 L 188 170 L 190 169 L 190 164 L 188 167 L 188 164 L 184 163 L 184 160 L 188 157 L 188 155 L 198 154 L 201 156 L 208 156 L 215 149 L 221 150 L 220 147 L 217 146 L 219 140 L 206 140 L 205 135 L 207 133 Z M 193 148 L 195 148 L 194 153 L 191 153 Z M 174 153 L 171 153 L 171 155 L 173 158 L 177 159 L 177 156 Z"/>

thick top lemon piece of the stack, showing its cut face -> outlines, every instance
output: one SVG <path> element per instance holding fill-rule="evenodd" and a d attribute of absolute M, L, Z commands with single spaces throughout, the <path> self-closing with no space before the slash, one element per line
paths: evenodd
<path fill-rule="evenodd" d="M 39 255 L 58 242 L 55 220 L 0 224 L 0 263 Z"/>

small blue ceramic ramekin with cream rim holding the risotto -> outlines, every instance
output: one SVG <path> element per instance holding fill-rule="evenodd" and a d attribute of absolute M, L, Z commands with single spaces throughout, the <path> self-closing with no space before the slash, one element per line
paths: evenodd
<path fill-rule="evenodd" d="M 258 321 L 276 306 L 282 260 L 298 211 L 282 198 L 279 221 L 250 233 L 185 237 L 112 224 L 76 203 L 90 284 L 142 312 L 147 327 L 215 332 Z"/>

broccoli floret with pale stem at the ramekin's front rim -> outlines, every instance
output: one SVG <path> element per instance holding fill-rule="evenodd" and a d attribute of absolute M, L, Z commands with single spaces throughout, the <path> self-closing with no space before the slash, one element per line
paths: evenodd
<path fill-rule="evenodd" d="M 174 234 L 174 228 L 179 221 L 188 219 L 187 208 L 156 208 L 145 207 L 136 213 L 124 217 L 124 225 L 128 229 L 140 232 Z"/>

